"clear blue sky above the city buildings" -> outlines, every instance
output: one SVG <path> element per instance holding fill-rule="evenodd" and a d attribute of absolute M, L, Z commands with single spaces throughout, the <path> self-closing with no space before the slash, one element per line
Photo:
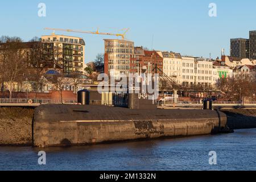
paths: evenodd
<path fill-rule="evenodd" d="M 39 18 L 38 4 L 46 3 L 46 17 Z M 208 15 L 209 3 L 216 3 L 217 17 Z M 44 27 L 117 32 L 130 28 L 127 39 L 135 46 L 182 55 L 216 58 L 225 48 L 229 54 L 230 38 L 248 38 L 256 30 L 256 1 L 253 0 L 23 0 L 1 1 L 0 36 L 19 36 L 24 41 L 34 36 L 48 35 Z M 85 61 L 94 60 L 104 52 L 104 38 L 90 34 L 81 36 L 86 42 Z"/>

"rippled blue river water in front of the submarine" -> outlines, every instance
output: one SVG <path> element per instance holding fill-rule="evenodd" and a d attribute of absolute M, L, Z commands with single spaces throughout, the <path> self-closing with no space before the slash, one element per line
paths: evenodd
<path fill-rule="evenodd" d="M 41 149 L 42 150 L 42 149 Z M 256 170 L 256 129 L 81 147 L 0 147 L 0 170 Z M 217 164 L 209 164 L 216 151 Z"/>

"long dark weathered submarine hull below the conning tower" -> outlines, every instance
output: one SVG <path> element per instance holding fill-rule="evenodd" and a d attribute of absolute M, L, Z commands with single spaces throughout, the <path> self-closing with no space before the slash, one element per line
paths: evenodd
<path fill-rule="evenodd" d="M 226 115 L 214 110 L 130 110 L 42 105 L 34 114 L 34 146 L 65 146 L 218 132 Z"/>

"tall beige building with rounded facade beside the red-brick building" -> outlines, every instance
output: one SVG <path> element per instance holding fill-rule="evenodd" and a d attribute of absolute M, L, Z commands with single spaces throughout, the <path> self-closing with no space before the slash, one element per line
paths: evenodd
<path fill-rule="evenodd" d="M 118 77 L 121 73 L 128 76 L 130 58 L 134 55 L 134 42 L 119 39 L 104 39 L 104 41 L 104 72 L 114 77 Z"/>

